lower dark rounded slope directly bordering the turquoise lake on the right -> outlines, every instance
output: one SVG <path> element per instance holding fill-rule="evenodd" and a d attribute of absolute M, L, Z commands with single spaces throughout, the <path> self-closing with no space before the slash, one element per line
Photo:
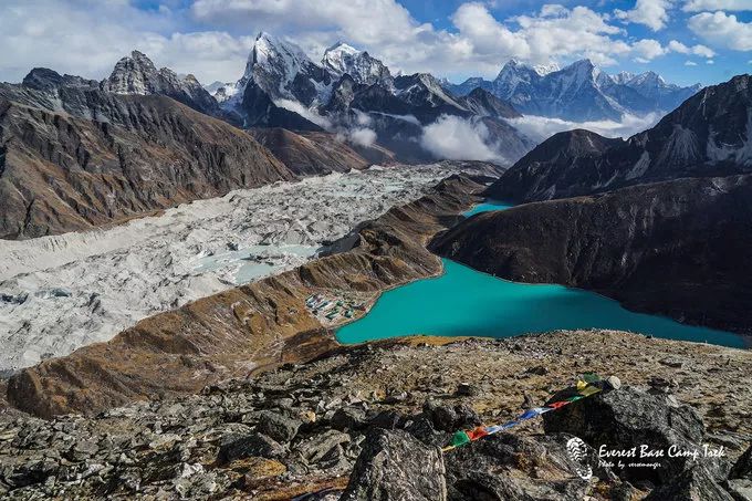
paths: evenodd
<path fill-rule="evenodd" d="M 494 275 L 752 334 L 752 176 L 686 178 L 483 213 L 435 242 Z"/>

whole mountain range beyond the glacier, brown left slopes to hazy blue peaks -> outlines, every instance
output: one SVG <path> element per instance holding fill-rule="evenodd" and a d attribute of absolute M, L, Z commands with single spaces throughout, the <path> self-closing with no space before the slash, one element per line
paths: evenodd
<path fill-rule="evenodd" d="M 34 69 L 0 84 L 0 238 L 92 228 L 296 176 L 446 158 L 431 145 L 462 134 L 483 143 L 483 159 L 511 165 L 535 146 L 514 126 L 521 113 L 617 118 L 693 90 L 654 74 L 608 76 L 588 61 L 510 62 L 491 83 L 456 88 L 428 73 L 394 75 L 345 43 L 316 63 L 267 33 L 240 80 L 208 88 L 138 51 L 101 82 Z M 459 149 L 453 158 L 473 159 L 479 147 Z"/>

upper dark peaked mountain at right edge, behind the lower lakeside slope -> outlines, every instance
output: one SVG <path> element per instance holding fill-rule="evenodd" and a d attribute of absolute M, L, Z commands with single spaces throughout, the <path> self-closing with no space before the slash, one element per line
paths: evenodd
<path fill-rule="evenodd" d="M 586 195 L 685 176 L 752 170 L 752 77 L 703 88 L 655 127 L 627 140 L 587 131 L 543 142 L 493 186 L 502 199 L 531 201 Z"/>

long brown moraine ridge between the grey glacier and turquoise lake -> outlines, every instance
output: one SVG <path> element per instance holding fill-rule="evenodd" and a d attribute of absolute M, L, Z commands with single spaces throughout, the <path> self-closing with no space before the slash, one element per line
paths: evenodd
<path fill-rule="evenodd" d="M 306 298 L 324 293 L 367 305 L 387 288 L 438 273 L 441 262 L 426 241 L 477 201 L 473 194 L 481 188 L 451 177 L 421 199 L 362 225 L 335 246 L 338 253 L 152 316 L 107 343 L 23 369 L 9 382 L 9 401 L 46 417 L 96 413 L 311 358 L 334 338 L 306 307 Z"/>

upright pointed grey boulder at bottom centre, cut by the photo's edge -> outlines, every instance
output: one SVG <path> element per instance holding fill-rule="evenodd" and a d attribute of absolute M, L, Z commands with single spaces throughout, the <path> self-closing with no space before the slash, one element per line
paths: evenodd
<path fill-rule="evenodd" d="M 400 430 L 376 429 L 365 440 L 341 501 L 445 501 L 441 451 Z"/>

